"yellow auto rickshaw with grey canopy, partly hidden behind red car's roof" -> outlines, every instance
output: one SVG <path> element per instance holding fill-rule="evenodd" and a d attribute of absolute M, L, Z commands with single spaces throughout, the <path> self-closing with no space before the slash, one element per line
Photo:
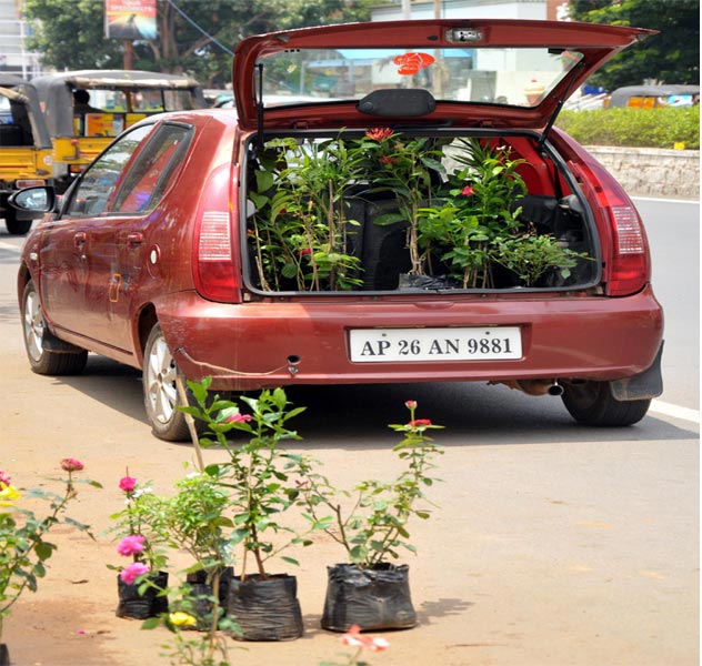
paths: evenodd
<path fill-rule="evenodd" d="M 122 130 L 147 115 L 207 107 L 198 81 L 180 74 L 82 70 L 38 77 L 32 83 L 53 142 L 58 191 L 66 190 Z M 87 110 L 73 105 L 79 90 L 90 95 Z"/>

